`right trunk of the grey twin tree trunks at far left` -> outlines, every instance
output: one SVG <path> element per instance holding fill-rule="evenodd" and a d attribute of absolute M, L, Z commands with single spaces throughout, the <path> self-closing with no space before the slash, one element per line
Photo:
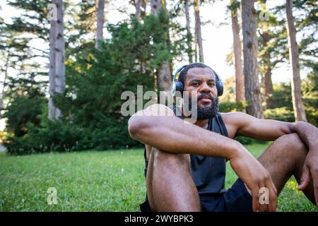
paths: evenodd
<path fill-rule="evenodd" d="M 65 91 L 65 43 L 63 32 L 63 1 L 56 0 L 57 2 L 57 51 L 56 51 L 56 79 L 55 79 L 55 92 L 63 94 Z M 61 117 L 60 109 L 56 109 L 55 119 Z"/>

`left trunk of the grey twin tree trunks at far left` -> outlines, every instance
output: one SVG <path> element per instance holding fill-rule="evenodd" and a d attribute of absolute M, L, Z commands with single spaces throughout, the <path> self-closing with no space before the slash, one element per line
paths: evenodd
<path fill-rule="evenodd" d="M 52 1 L 55 4 L 55 1 Z M 55 92 L 55 76 L 56 72 L 56 43 L 57 43 L 57 20 L 49 21 L 49 120 L 55 119 L 57 112 L 54 106 L 53 96 Z"/>

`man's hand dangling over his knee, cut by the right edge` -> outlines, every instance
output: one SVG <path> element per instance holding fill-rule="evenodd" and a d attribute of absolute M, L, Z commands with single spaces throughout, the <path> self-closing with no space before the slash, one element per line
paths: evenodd
<path fill-rule="evenodd" d="M 302 177 L 300 177 L 300 184 L 298 190 L 306 189 L 307 185 L 312 179 L 314 186 L 314 198 L 316 206 L 318 206 L 318 150 L 310 150 L 304 167 L 302 168 Z"/>

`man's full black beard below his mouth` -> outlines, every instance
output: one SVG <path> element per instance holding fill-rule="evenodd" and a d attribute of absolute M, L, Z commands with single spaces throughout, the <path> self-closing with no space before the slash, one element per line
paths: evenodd
<path fill-rule="evenodd" d="M 202 95 L 201 95 L 202 96 Z M 211 95 L 210 95 L 211 97 Z M 198 102 L 199 100 L 201 100 L 201 97 L 198 97 Z M 187 103 L 184 102 L 185 107 L 187 107 Z M 189 107 L 187 109 L 189 109 L 189 111 L 192 111 L 192 101 L 191 98 L 189 98 Z M 216 117 L 216 115 L 218 114 L 218 97 L 214 98 L 212 100 L 212 105 L 210 107 L 201 107 L 199 105 L 197 105 L 197 120 L 202 120 L 202 119 L 211 119 L 213 117 Z M 195 107 L 194 107 L 195 110 Z"/>

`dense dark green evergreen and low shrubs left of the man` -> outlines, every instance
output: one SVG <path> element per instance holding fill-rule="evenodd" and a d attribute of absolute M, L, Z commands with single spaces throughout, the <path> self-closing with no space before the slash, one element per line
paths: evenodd
<path fill-rule="evenodd" d="M 126 100 L 121 100 L 121 95 L 129 90 L 136 97 L 137 84 L 143 85 L 143 93 L 154 90 L 154 69 L 182 54 L 183 37 L 166 44 L 167 37 L 163 34 L 169 26 L 169 18 L 163 11 L 159 16 L 148 16 L 143 23 L 133 19 L 108 25 L 111 38 L 101 42 L 99 50 L 93 47 L 93 42 L 88 42 L 75 59 L 66 59 L 66 93 L 54 95 L 54 103 L 63 112 L 63 119 L 47 121 L 47 109 L 35 112 L 36 123 L 34 120 L 19 122 L 17 128 L 24 133 L 8 136 L 8 152 L 26 154 L 141 146 L 129 136 L 129 117 L 121 114 Z M 34 98 L 29 99 L 35 102 Z M 11 106 L 16 106 L 12 104 L 15 102 L 18 100 L 12 97 Z M 18 111 L 18 107 L 16 109 Z M 8 110 L 7 117 L 16 114 L 12 108 Z M 8 124 L 8 129 L 13 129 L 11 127 L 12 124 Z"/>

